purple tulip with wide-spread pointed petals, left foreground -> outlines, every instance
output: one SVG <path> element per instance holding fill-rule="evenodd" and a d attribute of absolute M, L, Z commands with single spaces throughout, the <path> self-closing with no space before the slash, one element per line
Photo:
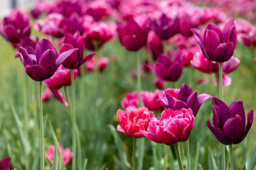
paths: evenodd
<path fill-rule="evenodd" d="M 52 77 L 60 64 L 75 50 L 78 49 L 72 48 L 58 55 L 52 42 L 43 38 L 36 43 L 35 55 L 28 54 L 23 47 L 19 48 L 18 55 L 28 76 L 35 81 L 43 81 Z"/>

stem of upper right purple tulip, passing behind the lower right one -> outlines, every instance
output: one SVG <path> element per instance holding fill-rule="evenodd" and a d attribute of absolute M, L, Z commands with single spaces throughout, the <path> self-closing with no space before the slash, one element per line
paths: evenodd
<path fill-rule="evenodd" d="M 221 101 L 224 100 L 224 96 L 223 96 L 223 72 L 222 72 L 222 64 L 221 62 L 219 62 L 219 98 Z M 225 169 L 225 145 L 222 145 L 222 149 L 221 149 L 221 161 L 222 161 L 222 169 Z"/>

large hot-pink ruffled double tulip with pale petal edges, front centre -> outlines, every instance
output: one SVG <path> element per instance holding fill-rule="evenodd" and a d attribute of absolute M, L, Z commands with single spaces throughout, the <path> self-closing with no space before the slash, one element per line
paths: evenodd
<path fill-rule="evenodd" d="M 161 113 L 161 118 L 151 118 L 149 127 L 141 130 L 142 134 L 156 143 L 174 145 L 188 140 L 193 129 L 195 117 L 190 108 L 181 111 L 167 109 Z"/>

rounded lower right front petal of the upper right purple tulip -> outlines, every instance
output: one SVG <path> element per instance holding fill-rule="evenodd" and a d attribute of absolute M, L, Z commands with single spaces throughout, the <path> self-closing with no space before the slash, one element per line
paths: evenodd
<path fill-rule="evenodd" d="M 225 42 L 220 44 L 214 52 L 213 61 L 226 62 L 230 60 L 234 53 L 235 47 L 233 42 Z"/>

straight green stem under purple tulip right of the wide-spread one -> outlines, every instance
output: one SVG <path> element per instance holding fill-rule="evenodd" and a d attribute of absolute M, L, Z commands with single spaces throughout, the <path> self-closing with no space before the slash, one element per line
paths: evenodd
<path fill-rule="evenodd" d="M 74 81 L 74 70 L 71 69 L 71 101 L 72 101 L 72 112 L 71 120 L 72 120 L 72 150 L 73 150 L 73 159 L 72 159 L 72 170 L 76 170 L 76 123 L 75 123 L 75 81 Z"/>

